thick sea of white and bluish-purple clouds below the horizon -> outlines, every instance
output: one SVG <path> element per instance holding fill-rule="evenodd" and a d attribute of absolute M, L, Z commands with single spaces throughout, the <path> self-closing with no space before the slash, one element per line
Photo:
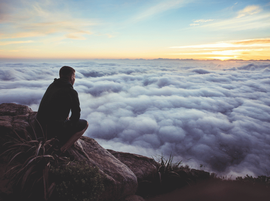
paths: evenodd
<path fill-rule="evenodd" d="M 63 65 L 76 70 L 84 135 L 104 148 L 172 153 L 175 162 L 232 178 L 269 173 L 270 62 L 2 61 L 0 103 L 37 111 Z"/>

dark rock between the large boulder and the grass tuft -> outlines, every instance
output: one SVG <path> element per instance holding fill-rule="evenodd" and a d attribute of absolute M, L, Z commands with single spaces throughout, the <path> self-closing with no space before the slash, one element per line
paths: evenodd
<path fill-rule="evenodd" d="M 137 177 L 138 183 L 141 181 L 155 181 L 157 175 L 157 163 L 154 159 L 138 154 L 117 152 L 110 149 L 107 150 L 133 171 Z"/>

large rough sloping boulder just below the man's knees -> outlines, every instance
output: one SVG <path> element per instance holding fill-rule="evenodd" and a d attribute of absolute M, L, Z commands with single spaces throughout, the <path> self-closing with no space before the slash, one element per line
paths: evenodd
<path fill-rule="evenodd" d="M 99 167 L 100 173 L 106 176 L 105 191 L 100 196 L 100 200 L 119 200 L 135 194 L 137 178 L 134 173 L 96 140 L 82 136 L 75 146 L 70 148 L 70 152 L 75 156 L 75 160 L 86 159 L 87 164 Z"/>

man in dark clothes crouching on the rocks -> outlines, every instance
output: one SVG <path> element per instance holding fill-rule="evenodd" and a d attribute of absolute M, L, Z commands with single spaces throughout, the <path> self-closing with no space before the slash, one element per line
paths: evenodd
<path fill-rule="evenodd" d="M 88 122 L 80 119 L 78 93 L 73 88 L 75 70 L 63 66 L 59 77 L 47 88 L 38 108 L 37 120 L 47 140 L 56 137 L 63 145 L 61 152 L 65 152 L 84 134 Z"/>

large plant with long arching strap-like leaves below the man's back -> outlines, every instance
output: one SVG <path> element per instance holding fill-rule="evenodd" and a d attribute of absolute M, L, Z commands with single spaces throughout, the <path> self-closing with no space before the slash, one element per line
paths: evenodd
<path fill-rule="evenodd" d="M 4 177 L 7 177 L 13 184 L 13 191 L 22 199 L 44 198 L 48 200 L 55 183 L 49 183 L 49 169 L 51 165 L 58 165 L 59 161 L 68 164 L 66 157 L 59 157 L 54 152 L 54 144 L 58 141 L 54 138 L 37 138 L 24 129 L 23 136 L 14 131 L 17 138 L 12 138 L 5 143 L 7 150 L 1 155 L 8 159 L 7 170 Z M 42 190 L 43 189 L 43 190 Z M 43 195 L 43 196 L 42 196 Z"/>

